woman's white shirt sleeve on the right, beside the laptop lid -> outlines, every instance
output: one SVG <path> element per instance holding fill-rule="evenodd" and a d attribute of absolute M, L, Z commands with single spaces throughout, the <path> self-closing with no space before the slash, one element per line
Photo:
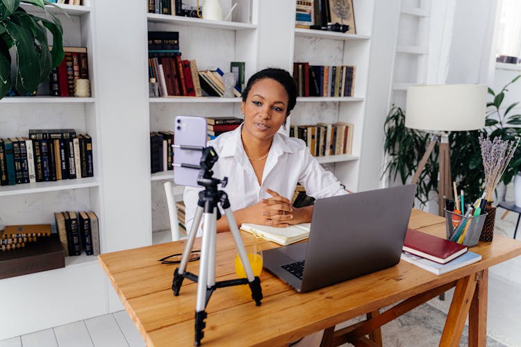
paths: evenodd
<path fill-rule="evenodd" d="M 304 166 L 299 176 L 299 183 L 304 186 L 307 195 L 313 198 L 328 198 L 348 194 L 338 178 L 330 171 L 324 170 L 307 148 L 301 155 L 304 156 Z"/>

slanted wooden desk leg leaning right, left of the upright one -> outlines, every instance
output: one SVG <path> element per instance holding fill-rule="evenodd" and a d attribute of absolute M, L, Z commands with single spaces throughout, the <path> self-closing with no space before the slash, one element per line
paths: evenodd
<path fill-rule="evenodd" d="M 445 321 L 445 328 L 440 339 L 440 346 L 458 346 L 461 339 L 461 333 L 465 326 L 465 319 L 467 318 L 470 302 L 474 296 L 474 289 L 476 288 L 477 273 L 465 278 L 460 278 L 456 283 L 454 290 L 454 297 L 450 304 L 447 320 Z"/>

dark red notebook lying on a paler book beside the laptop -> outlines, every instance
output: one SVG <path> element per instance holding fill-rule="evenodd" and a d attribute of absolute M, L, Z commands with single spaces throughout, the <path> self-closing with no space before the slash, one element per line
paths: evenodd
<path fill-rule="evenodd" d="M 468 247 L 408 228 L 403 250 L 433 262 L 445 264 L 468 251 Z"/>

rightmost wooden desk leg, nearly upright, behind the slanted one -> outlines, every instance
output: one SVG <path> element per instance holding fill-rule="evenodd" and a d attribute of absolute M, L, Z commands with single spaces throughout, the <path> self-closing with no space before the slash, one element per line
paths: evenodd
<path fill-rule="evenodd" d="M 481 271 L 468 316 L 468 345 L 486 346 L 488 269 Z"/>

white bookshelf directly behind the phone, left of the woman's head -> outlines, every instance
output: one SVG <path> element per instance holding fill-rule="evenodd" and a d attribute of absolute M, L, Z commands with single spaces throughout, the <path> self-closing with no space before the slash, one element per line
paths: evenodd
<path fill-rule="evenodd" d="M 247 0 L 251 6 L 251 23 L 245 17 L 233 22 L 212 21 L 175 15 L 147 13 L 148 31 L 179 31 L 179 45 L 184 59 L 195 59 L 199 70 L 219 67 L 229 71 L 230 62 L 245 62 L 245 79 L 258 70 L 258 19 L 261 1 Z M 233 1 L 235 2 L 235 1 Z M 242 1 L 244 3 L 244 1 Z M 232 1 L 221 1 L 223 13 Z M 144 57 L 147 61 L 147 57 Z M 167 96 L 149 98 L 149 131 L 173 130 L 178 115 L 199 117 L 240 117 L 240 98 L 215 96 Z M 151 174 L 151 230 L 169 230 L 163 183 L 172 180 L 174 171 Z M 179 187 L 182 194 L 183 187 Z"/>

